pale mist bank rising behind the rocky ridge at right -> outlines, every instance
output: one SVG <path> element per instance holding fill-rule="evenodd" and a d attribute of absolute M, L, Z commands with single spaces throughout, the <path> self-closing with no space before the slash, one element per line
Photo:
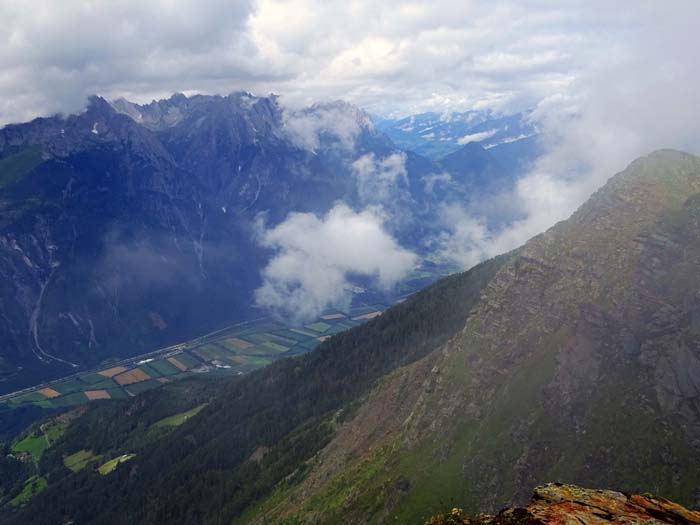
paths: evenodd
<path fill-rule="evenodd" d="M 468 266 L 524 243 L 566 219 L 633 159 L 672 147 L 700 153 L 700 106 L 694 86 L 698 4 L 645 4 L 628 15 L 634 32 L 545 97 L 531 118 L 546 152 L 521 178 L 510 206 L 520 217 L 488 229 L 464 209 L 445 212 L 443 254 Z M 614 9 L 599 6 L 598 16 Z"/>

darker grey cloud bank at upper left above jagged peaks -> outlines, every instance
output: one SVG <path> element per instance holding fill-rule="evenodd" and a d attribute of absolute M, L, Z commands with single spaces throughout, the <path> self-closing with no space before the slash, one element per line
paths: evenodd
<path fill-rule="evenodd" d="M 0 124 L 280 78 L 250 39 L 251 0 L 0 3 Z M 220 82 L 224 80 L 224 82 Z M 231 89 L 226 89 L 226 92 Z"/>

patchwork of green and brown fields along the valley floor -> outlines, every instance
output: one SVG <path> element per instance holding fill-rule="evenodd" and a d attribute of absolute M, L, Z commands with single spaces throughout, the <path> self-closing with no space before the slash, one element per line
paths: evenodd
<path fill-rule="evenodd" d="M 39 385 L 6 396 L 0 403 L 10 407 L 63 408 L 135 396 L 191 374 L 245 374 L 277 359 L 309 352 L 334 334 L 376 317 L 386 308 L 387 305 L 377 304 L 346 312 L 330 311 L 305 326 L 288 326 L 271 319 L 241 323 L 148 356 L 113 362 L 99 370 Z M 35 456 L 41 454 L 45 443 L 43 435 L 28 437 L 20 448 Z"/>

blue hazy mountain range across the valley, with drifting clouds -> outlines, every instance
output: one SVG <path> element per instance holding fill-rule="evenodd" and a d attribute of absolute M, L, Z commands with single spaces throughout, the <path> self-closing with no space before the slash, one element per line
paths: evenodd
<path fill-rule="evenodd" d="M 501 131 L 483 145 L 503 145 L 437 161 L 345 102 L 285 111 L 242 92 L 93 97 L 83 113 L 6 126 L 0 390 L 260 308 L 316 315 L 351 288 L 378 300 L 420 264 L 463 264 L 447 257 L 450 213 L 478 202 L 486 220 L 506 217 L 483 204 L 521 173 L 492 154 L 516 122 L 513 133 L 531 131 L 521 116 L 485 120 Z M 373 233 L 353 245 L 353 228 Z M 358 255 L 333 258 L 345 252 Z"/>

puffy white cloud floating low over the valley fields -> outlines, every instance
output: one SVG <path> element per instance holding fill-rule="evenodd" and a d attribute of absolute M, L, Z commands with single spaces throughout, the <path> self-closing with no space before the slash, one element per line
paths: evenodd
<path fill-rule="evenodd" d="M 323 217 L 292 213 L 273 228 L 263 227 L 260 243 L 275 255 L 262 271 L 256 304 L 296 321 L 347 307 L 353 277 L 390 289 L 417 263 L 384 230 L 379 214 L 355 212 L 342 203 Z"/>

